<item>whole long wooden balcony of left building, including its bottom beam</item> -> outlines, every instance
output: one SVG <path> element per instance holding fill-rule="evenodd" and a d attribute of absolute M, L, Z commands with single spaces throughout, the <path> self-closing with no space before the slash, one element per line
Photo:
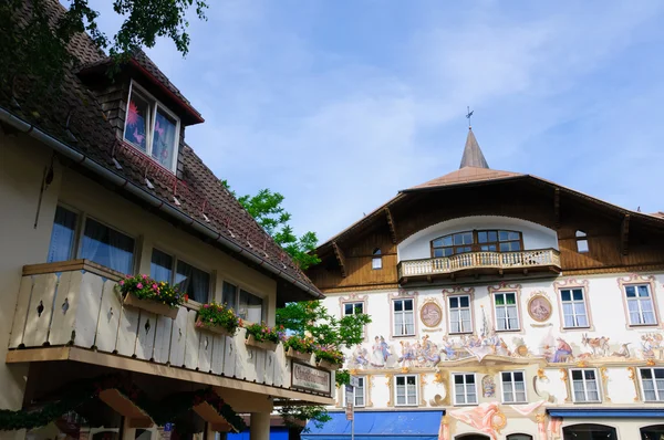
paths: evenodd
<path fill-rule="evenodd" d="M 248 346 L 245 328 L 235 336 L 197 328 L 197 311 L 186 306 L 172 319 L 124 305 L 118 275 L 85 260 L 24 266 L 7 362 L 77 360 L 283 399 L 333 402 L 334 371 L 318 369 L 313 356 L 298 360 L 297 369 L 305 369 L 300 376 L 329 374 L 326 391 L 293 384 L 293 363 L 281 344 L 271 352 Z"/>

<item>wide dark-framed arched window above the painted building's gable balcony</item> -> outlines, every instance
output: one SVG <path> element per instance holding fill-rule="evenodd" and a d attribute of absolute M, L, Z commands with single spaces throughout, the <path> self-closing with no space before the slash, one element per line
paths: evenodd
<path fill-rule="evenodd" d="M 432 256 L 450 256 L 473 251 L 512 252 L 523 249 L 521 232 L 478 230 L 452 233 L 432 241 Z"/>

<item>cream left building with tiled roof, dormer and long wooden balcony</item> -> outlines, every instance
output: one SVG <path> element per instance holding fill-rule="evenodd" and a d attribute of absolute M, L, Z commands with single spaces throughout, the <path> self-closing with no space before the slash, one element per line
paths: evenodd
<path fill-rule="evenodd" d="M 262 440 L 276 405 L 331 405 L 333 371 L 195 325 L 212 301 L 273 325 L 323 297 L 186 144 L 201 115 L 143 52 L 110 80 L 86 34 L 70 50 L 59 93 L 0 88 L 0 439 L 211 436 L 250 415 Z M 175 318 L 123 303 L 138 273 L 188 294 Z"/>

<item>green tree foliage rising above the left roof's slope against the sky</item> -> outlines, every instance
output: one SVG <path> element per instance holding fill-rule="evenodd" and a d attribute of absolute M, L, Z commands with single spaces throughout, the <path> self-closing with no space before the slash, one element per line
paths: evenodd
<path fill-rule="evenodd" d="M 300 238 L 293 233 L 293 229 L 289 224 L 291 214 L 281 206 L 283 202 L 281 193 L 261 189 L 256 196 L 237 197 L 227 180 L 221 180 L 220 184 L 238 199 L 240 205 L 274 239 L 277 244 L 291 255 L 300 269 L 304 271 L 321 262 L 314 253 L 318 243 L 315 232 L 305 232 Z"/>

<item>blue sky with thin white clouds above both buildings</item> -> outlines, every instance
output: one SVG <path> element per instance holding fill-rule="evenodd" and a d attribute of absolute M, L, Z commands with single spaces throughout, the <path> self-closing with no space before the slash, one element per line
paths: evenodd
<path fill-rule="evenodd" d="M 467 105 L 491 168 L 664 211 L 664 2 L 210 3 L 186 59 L 147 53 L 206 119 L 188 144 L 239 193 L 283 193 L 299 233 L 457 169 Z"/>

